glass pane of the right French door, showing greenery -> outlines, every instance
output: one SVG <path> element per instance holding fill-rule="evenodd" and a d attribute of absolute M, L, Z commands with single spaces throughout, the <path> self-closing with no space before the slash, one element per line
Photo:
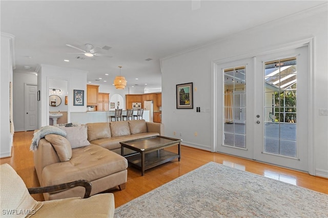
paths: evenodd
<path fill-rule="evenodd" d="M 264 63 L 264 147 L 266 153 L 297 157 L 296 57 Z"/>

